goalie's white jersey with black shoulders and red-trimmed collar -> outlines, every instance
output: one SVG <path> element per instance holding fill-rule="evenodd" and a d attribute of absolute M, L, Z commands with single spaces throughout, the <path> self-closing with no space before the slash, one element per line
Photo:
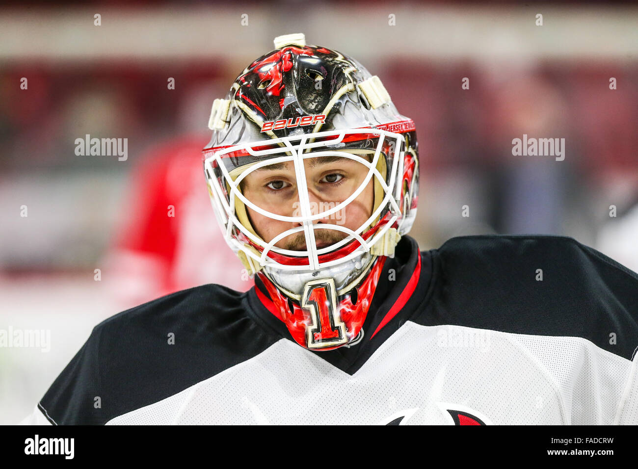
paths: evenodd
<path fill-rule="evenodd" d="M 297 345 L 260 282 L 108 318 L 25 423 L 637 424 L 638 275 L 569 237 L 403 237 L 358 343 Z"/>

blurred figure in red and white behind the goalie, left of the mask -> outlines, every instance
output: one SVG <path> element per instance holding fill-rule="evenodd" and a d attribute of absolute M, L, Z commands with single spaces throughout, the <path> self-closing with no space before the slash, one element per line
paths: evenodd
<path fill-rule="evenodd" d="M 253 286 L 211 206 L 201 153 L 208 140 L 189 135 L 156 145 L 133 170 L 104 269 L 122 308 L 205 283 Z"/>

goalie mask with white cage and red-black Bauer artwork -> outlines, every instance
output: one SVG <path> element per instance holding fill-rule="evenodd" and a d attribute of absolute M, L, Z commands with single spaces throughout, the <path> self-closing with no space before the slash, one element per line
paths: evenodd
<path fill-rule="evenodd" d="M 417 138 L 357 61 L 275 39 L 212 105 L 204 172 L 226 242 L 293 339 L 362 338 L 376 283 L 417 208 Z M 272 301 L 272 304 L 270 304 Z"/>

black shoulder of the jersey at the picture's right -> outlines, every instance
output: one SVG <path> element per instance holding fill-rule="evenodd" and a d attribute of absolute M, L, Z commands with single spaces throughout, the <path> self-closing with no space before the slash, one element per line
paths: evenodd
<path fill-rule="evenodd" d="M 433 249 L 433 296 L 413 320 L 576 336 L 626 359 L 638 346 L 638 274 L 551 235 L 475 235 Z"/>

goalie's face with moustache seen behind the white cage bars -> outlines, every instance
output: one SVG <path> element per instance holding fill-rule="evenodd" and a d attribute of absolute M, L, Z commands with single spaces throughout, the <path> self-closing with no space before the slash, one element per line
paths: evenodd
<path fill-rule="evenodd" d="M 350 197 L 366 178 L 368 168 L 350 158 L 321 156 L 304 160 L 306 184 L 311 214 L 325 212 Z M 373 179 L 362 192 L 343 209 L 313 223 L 341 225 L 357 230 L 371 216 L 374 201 Z M 242 181 L 242 192 L 261 209 L 283 216 L 301 216 L 297 177 L 292 161 L 260 168 L 248 174 Z M 302 223 L 273 220 L 250 207 L 246 207 L 253 228 L 266 242 L 276 235 L 300 227 Z M 346 233 L 333 229 L 315 228 L 317 248 L 325 248 L 340 241 Z M 306 250 L 304 232 L 288 235 L 275 246 L 293 251 Z"/>

